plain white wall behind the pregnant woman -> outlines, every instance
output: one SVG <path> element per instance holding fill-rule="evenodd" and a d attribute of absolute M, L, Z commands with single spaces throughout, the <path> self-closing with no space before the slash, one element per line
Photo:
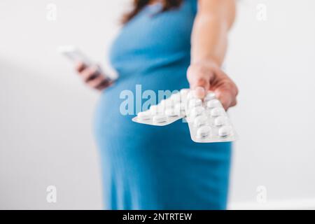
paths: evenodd
<path fill-rule="evenodd" d="M 106 64 L 127 7 L 120 1 L 0 2 L 0 209 L 101 209 L 91 133 L 97 93 L 80 83 L 58 45 L 79 45 Z M 55 3 L 57 20 L 46 19 Z M 265 3 L 267 20 L 257 20 Z M 237 141 L 231 204 L 315 198 L 315 2 L 243 0 L 227 71 L 239 85 L 230 111 Z M 48 204 L 45 188 L 57 187 Z M 235 207 L 233 207 L 235 208 Z M 237 207 L 236 207 L 237 208 Z"/>

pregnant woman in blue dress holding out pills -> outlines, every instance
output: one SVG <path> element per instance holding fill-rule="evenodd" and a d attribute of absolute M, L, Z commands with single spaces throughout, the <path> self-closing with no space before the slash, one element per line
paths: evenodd
<path fill-rule="evenodd" d="M 197 144 L 181 120 L 133 123 L 120 111 L 120 94 L 132 91 L 136 104 L 136 85 L 157 94 L 190 87 L 200 98 L 213 90 L 225 109 L 235 106 L 237 87 L 221 70 L 234 19 L 233 0 L 134 0 L 111 48 L 118 80 L 78 64 L 87 85 L 102 90 L 95 135 L 105 209 L 226 208 L 231 143 Z"/>

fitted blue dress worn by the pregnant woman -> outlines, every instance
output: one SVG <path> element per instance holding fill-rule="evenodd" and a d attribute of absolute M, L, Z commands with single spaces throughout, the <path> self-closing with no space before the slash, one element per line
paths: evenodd
<path fill-rule="evenodd" d="M 156 127 L 133 123 L 134 116 L 120 113 L 123 90 L 134 94 L 134 102 L 144 103 L 139 87 L 142 93 L 189 87 L 186 70 L 197 3 L 186 0 L 165 13 L 158 13 L 160 9 L 159 3 L 146 6 L 111 48 L 111 63 L 120 78 L 102 92 L 94 120 L 104 207 L 225 209 L 230 143 L 197 144 L 181 120 Z M 139 106 L 130 109 L 139 112 Z"/>

